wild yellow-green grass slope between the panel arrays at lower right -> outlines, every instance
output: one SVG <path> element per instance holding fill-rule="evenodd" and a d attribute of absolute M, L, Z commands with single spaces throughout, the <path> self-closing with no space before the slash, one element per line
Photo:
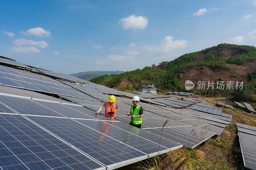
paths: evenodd
<path fill-rule="evenodd" d="M 240 109 L 223 108 L 233 115 L 220 136 L 213 136 L 194 149 L 182 147 L 156 157 L 118 168 L 134 170 L 245 170 L 236 122 L 256 126 L 256 116 Z"/>

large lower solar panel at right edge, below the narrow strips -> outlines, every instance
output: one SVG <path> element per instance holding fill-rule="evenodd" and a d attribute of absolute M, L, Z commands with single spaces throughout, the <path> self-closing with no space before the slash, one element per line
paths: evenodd
<path fill-rule="evenodd" d="M 256 170 L 256 136 L 238 132 L 244 167 Z"/>

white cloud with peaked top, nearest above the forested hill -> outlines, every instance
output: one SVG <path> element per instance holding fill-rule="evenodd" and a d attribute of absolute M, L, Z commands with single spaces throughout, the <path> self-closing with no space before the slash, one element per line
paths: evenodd
<path fill-rule="evenodd" d="M 185 47 L 188 43 L 187 40 L 177 39 L 177 40 L 173 41 L 173 39 L 174 38 L 172 36 L 166 36 L 160 46 L 149 46 L 149 47 L 147 47 L 147 49 L 149 51 L 156 50 L 156 51 L 170 52 L 173 49 Z"/>

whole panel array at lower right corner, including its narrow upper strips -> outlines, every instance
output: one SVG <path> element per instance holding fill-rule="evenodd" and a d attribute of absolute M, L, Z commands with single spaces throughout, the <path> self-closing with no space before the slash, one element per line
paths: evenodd
<path fill-rule="evenodd" d="M 244 167 L 256 170 L 256 127 L 236 123 Z"/>

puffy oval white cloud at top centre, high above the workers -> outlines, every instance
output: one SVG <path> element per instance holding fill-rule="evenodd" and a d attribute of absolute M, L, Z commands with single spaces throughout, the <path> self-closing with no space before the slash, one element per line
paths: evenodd
<path fill-rule="evenodd" d="M 136 17 L 135 15 L 131 15 L 127 18 L 120 19 L 119 23 L 121 23 L 125 29 L 144 29 L 148 26 L 148 18 L 142 16 Z"/>

